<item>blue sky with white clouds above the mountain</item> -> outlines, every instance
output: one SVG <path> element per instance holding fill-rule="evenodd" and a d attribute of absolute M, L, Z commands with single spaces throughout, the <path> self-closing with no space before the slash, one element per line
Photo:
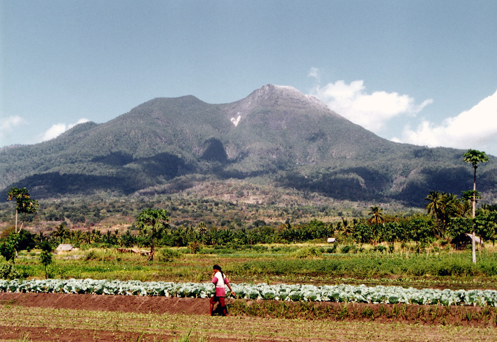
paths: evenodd
<path fill-rule="evenodd" d="M 0 0 L 0 146 L 275 84 L 393 141 L 497 156 L 496 18 L 495 0 Z"/>

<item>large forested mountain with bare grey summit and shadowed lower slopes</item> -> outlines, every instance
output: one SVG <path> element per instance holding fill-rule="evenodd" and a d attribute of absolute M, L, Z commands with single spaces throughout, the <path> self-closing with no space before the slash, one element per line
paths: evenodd
<path fill-rule="evenodd" d="M 107 122 L 0 150 L 6 175 L 0 187 L 28 187 L 48 197 L 96 190 L 130 195 L 200 174 L 263 177 L 333 198 L 421 205 L 429 190 L 472 188 L 464 152 L 388 141 L 313 96 L 264 85 L 225 104 L 158 97 Z M 497 198 L 497 160 L 491 160 L 479 168 L 479 189 L 489 200 Z"/>

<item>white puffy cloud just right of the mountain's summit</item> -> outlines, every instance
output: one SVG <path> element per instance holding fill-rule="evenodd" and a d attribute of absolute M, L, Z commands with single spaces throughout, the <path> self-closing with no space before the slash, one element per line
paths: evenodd
<path fill-rule="evenodd" d="M 311 69 L 311 72 L 317 74 L 317 70 Z M 350 84 L 336 81 L 325 86 L 318 85 L 311 95 L 324 101 L 331 110 L 375 133 L 381 131 L 392 118 L 403 114 L 415 115 L 433 102 L 427 99 L 416 104 L 413 97 L 397 92 L 367 93 L 362 80 Z"/>

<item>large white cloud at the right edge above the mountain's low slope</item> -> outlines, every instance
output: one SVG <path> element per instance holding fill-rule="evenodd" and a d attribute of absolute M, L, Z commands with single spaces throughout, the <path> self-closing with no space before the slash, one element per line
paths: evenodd
<path fill-rule="evenodd" d="M 440 125 L 423 120 L 415 129 L 408 126 L 402 139 L 395 138 L 395 141 L 429 147 L 471 148 L 497 155 L 497 91 Z"/>

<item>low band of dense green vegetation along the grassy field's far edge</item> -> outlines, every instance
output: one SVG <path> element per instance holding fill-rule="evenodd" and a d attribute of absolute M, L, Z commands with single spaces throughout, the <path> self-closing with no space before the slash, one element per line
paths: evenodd
<path fill-rule="evenodd" d="M 469 218 L 452 218 L 446 227 L 440 228 L 439 223 L 433 218 L 423 215 L 410 217 L 389 218 L 388 222 L 374 224 L 365 220 L 343 219 L 340 222 L 325 223 L 312 220 L 306 224 L 292 225 L 290 222 L 277 227 L 268 226 L 264 221 L 254 221 L 248 228 L 208 227 L 201 222 L 197 226 L 175 226 L 163 229 L 154 235 L 159 247 L 189 247 L 200 250 L 202 246 L 215 246 L 216 248 L 239 248 L 257 244 L 293 244 L 306 242 L 325 242 L 327 238 L 334 237 L 340 244 L 342 252 L 357 253 L 361 251 L 361 244 L 391 244 L 391 247 L 377 246 L 380 251 L 393 249 L 394 243 L 414 242 L 414 250 L 424 250 L 431 243 L 440 241 L 446 246 L 453 238 L 462 233 L 471 231 L 473 222 L 476 223 L 476 233 L 485 241 L 495 243 L 497 237 L 496 212 L 481 213 L 473 221 Z M 11 230 L 2 232 L 2 240 L 7 241 L 12 235 Z M 43 241 L 48 240 L 52 246 L 60 243 L 70 243 L 77 247 L 106 246 L 106 247 L 151 247 L 152 235 L 147 228 L 140 229 L 132 225 L 128 229 L 107 230 L 69 230 L 63 222 L 51 232 L 31 234 L 21 230 L 16 250 L 34 249 Z M 348 244 L 348 245 L 347 245 Z M 404 246 L 403 245 L 403 246 Z M 336 252 L 336 246 L 330 248 Z"/>

